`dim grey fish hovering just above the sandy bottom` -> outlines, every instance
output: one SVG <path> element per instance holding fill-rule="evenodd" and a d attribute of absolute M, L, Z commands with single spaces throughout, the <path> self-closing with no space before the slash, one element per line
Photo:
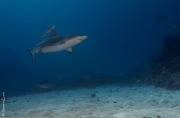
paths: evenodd
<path fill-rule="evenodd" d="M 49 82 L 48 80 L 42 81 L 40 83 L 35 83 L 35 88 L 48 89 L 52 87 L 53 87 L 53 83 Z"/>

